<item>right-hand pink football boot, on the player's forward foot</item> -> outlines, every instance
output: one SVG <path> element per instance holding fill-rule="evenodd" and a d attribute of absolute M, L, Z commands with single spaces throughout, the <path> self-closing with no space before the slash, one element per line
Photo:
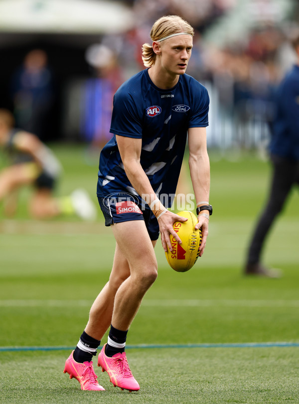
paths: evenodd
<path fill-rule="evenodd" d="M 101 366 L 102 372 L 106 370 L 114 387 L 117 386 L 122 390 L 129 390 L 129 392 L 139 390 L 140 386 L 129 368 L 126 352 L 115 354 L 110 358 L 105 354 L 105 347 L 106 344 L 98 358 L 98 366 Z"/>

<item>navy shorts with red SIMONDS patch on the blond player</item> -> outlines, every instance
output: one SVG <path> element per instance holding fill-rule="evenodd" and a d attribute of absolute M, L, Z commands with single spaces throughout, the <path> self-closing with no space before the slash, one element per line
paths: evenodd
<path fill-rule="evenodd" d="M 106 198 L 98 197 L 98 201 L 105 217 L 105 226 L 124 221 L 144 220 L 149 237 L 157 240 L 159 237 L 159 224 L 149 209 L 149 206 L 140 206 L 138 199 L 128 193 L 115 193 Z"/>

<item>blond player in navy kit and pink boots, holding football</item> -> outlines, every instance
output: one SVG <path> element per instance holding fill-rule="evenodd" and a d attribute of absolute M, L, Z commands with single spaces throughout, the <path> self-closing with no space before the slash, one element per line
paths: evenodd
<path fill-rule="evenodd" d="M 82 390 L 104 390 L 93 371 L 101 338 L 108 343 L 98 358 L 111 382 L 129 391 L 140 386 L 129 368 L 125 345 L 143 297 L 157 277 L 154 246 L 161 234 L 164 250 L 173 251 L 173 223 L 186 218 L 167 210 L 175 194 L 188 133 L 189 167 L 202 230 L 202 256 L 208 235 L 210 164 L 206 148 L 209 97 L 185 74 L 192 51 L 193 28 L 178 16 L 164 16 L 152 26 L 152 44 L 143 45 L 147 69 L 116 92 L 110 132 L 101 151 L 97 194 L 116 239 L 109 282 L 93 303 L 89 321 L 64 373 Z M 163 199 L 163 203 L 159 198 Z M 163 197 L 163 198 L 162 198 Z"/>

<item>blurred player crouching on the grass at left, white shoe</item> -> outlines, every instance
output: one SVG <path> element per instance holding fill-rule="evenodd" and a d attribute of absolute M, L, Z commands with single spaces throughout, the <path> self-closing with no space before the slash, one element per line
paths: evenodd
<path fill-rule="evenodd" d="M 38 219 L 78 214 L 85 220 L 96 218 L 96 208 L 84 190 L 55 198 L 53 190 L 61 173 L 61 165 L 52 151 L 37 136 L 14 128 L 14 118 L 7 109 L 0 109 L 0 147 L 11 164 L 0 171 L 0 202 L 4 214 L 12 216 L 17 208 L 20 188 L 32 185 L 29 203 L 31 216 Z"/>

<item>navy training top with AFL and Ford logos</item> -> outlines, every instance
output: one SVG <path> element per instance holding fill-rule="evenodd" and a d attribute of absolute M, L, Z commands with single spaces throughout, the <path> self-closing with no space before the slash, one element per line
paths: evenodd
<path fill-rule="evenodd" d="M 116 136 L 142 139 L 141 166 L 157 196 L 171 206 L 185 151 L 187 130 L 208 125 L 209 96 L 205 87 L 183 74 L 169 90 L 157 88 L 148 69 L 126 81 L 116 92 L 110 132 L 100 155 L 97 195 L 129 192 L 141 202 L 129 182 Z M 165 197 L 167 196 L 167 197 Z"/>

